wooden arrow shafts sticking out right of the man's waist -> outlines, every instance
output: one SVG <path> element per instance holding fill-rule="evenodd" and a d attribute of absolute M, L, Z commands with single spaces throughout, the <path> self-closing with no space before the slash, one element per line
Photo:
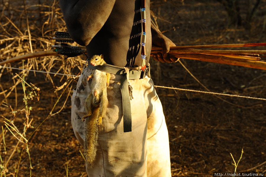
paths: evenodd
<path fill-rule="evenodd" d="M 266 70 L 266 50 L 207 50 L 212 48 L 266 46 L 266 43 L 222 44 L 170 47 L 169 55 L 184 59 L 193 59 L 227 65 L 236 65 Z M 153 47 L 151 54 L 161 52 Z"/>

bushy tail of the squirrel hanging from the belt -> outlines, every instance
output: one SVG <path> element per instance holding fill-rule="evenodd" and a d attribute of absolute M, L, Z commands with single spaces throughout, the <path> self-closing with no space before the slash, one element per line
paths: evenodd
<path fill-rule="evenodd" d="M 93 109 L 92 115 L 86 119 L 86 139 L 84 142 L 85 159 L 88 167 L 93 167 L 98 145 L 98 123 L 100 107 Z"/>

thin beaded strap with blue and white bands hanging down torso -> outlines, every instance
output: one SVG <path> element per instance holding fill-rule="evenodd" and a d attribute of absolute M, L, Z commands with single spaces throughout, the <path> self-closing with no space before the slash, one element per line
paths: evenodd
<path fill-rule="evenodd" d="M 145 43 L 146 43 L 146 13 L 145 13 L 145 0 L 141 0 L 141 6 L 140 6 L 140 13 L 142 18 L 142 41 L 141 41 L 141 59 L 142 59 L 142 66 L 141 70 L 144 71 L 146 69 L 145 61 L 146 61 L 146 49 L 145 49 Z"/>

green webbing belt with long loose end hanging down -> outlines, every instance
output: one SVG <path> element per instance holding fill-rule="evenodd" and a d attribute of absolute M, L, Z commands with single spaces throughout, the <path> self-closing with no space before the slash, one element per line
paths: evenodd
<path fill-rule="evenodd" d="M 94 69 L 94 70 L 100 70 L 106 73 L 124 76 L 121 79 L 121 85 L 120 85 L 121 94 L 122 94 L 122 105 L 123 105 L 124 132 L 132 131 L 131 130 L 132 121 L 131 121 L 131 107 L 130 107 L 128 80 L 145 78 L 145 76 L 147 75 L 148 69 L 145 71 L 133 70 L 133 69 L 109 65 L 106 63 L 103 65 L 98 65 L 98 66 L 93 66 L 89 64 L 88 68 Z"/>

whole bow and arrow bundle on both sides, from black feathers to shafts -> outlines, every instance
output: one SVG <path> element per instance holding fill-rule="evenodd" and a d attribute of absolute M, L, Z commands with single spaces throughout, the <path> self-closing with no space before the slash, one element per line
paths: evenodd
<path fill-rule="evenodd" d="M 53 45 L 53 50 L 30 53 L 17 56 L 0 62 L 0 65 L 19 61 L 22 59 L 43 57 L 61 54 L 65 57 L 76 57 L 86 53 L 86 48 L 82 46 L 71 46 L 67 43 L 74 41 L 67 32 L 56 32 L 55 37 L 58 44 Z M 205 62 L 214 62 L 227 65 L 237 65 L 256 69 L 266 70 L 266 50 L 214 50 L 213 48 L 233 48 L 233 47 L 254 47 L 266 46 L 266 43 L 247 43 L 247 44 L 222 44 L 222 45 L 198 45 L 198 46 L 175 46 L 170 47 L 169 56 L 193 59 Z M 208 50 L 207 50 L 208 49 Z M 212 50 L 210 50 L 212 49 Z M 161 53 L 162 48 L 153 46 L 151 55 Z"/>

